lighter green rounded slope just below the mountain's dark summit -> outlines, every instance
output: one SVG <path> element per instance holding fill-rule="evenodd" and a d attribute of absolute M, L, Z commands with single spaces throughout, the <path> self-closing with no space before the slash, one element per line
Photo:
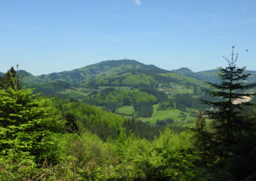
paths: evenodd
<path fill-rule="evenodd" d="M 93 77 L 81 87 L 100 87 L 100 86 L 114 86 L 114 87 L 171 87 L 172 85 L 183 85 L 193 87 L 205 87 L 204 83 L 196 78 L 180 75 L 178 73 L 170 73 L 165 71 L 147 71 L 141 69 L 122 71 L 112 75 L 104 75 Z"/>

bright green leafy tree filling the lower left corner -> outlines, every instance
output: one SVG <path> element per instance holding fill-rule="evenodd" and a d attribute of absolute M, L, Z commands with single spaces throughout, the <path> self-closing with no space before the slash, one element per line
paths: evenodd
<path fill-rule="evenodd" d="M 42 164 L 56 164 L 53 135 L 64 127 L 49 99 L 36 98 L 30 89 L 0 90 L 0 179 L 33 179 Z"/>

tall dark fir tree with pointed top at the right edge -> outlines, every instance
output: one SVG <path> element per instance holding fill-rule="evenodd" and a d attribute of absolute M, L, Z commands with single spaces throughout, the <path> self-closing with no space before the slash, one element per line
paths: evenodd
<path fill-rule="evenodd" d="M 216 178 L 240 180 L 253 177 L 255 174 L 256 127 L 253 120 L 244 119 L 242 116 L 244 105 L 250 103 L 236 103 L 236 100 L 243 100 L 244 96 L 255 94 L 248 95 L 236 91 L 251 89 L 256 84 L 244 85 L 244 80 L 250 74 L 243 74 L 245 67 L 236 67 L 237 55 L 234 56 L 234 47 L 231 59 L 225 59 L 228 66 L 218 68 L 220 73 L 217 73 L 221 79 L 220 85 L 208 82 L 213 90 L 217 91 L 206 91 L 212 97 L 221 98 L 222 101 L 203 101 L 214 107 L 213 111 L 206 112 L 209 118 L 214 120 L 214 133 L 201 134 L 205 139 L 199 148 L 204 150 L 202 155 L 207 158 L 207 168 L 211 168 Z"/>

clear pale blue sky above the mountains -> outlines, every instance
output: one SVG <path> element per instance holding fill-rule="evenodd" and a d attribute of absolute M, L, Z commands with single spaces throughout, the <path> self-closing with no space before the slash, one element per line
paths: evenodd
<path fill-rule="evenodd" d="M 0 71 L 33 75 L 134 59 L 164 69 L 256 70 L 255 0 L 0 0 Z M 246 50 L 248 49 L 248 52 Z"/>

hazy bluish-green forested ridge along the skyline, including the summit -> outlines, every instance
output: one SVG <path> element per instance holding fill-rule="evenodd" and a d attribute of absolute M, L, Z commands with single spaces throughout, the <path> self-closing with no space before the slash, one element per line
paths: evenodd
<path fill-rule="evenodd" d="M 31 73 L 26 73 L 24 76 L 24 83 L 46 83 L 56 80 L 65 81 L 71 83 L 73 86 L 78 86 L 81 83 L 88 82 L 92 78 L 99 76 L 113 76 L 118 75 L 118 73 L 124 73 L 126 71 L 148 71 L 154 73 L 178 73 L 180 75 L 185 75 L 189 77 L 202 80 L 204 82 L 218 82 L 216 80 L 216 72 L 218 69 L 212 69 L 207 71 L 193 72 L 189 68 L 180 68 L 168 71 L 165 69 L 157 68 L 154 65 L 143 64 L 138 61 L 122 59 L 122 60 L 111 60 L 111 61 L 102 61 L 96 64 L 89 66 L 84 66 L 83 68 L 73 69 L 71 71 L 61 71 L 59 73 L 50 73 L 47 75 L 34 76 Z M 24 70 L 19 70 L 19 76 L 24 75 Z M 244 73 L 250 73 L 251 75 L 248 78 L 248 82 L 256 82 L 256 71 L 244 71 Z M 4 73 L 0 72 L 0 76 L 3 76 Z"/>

